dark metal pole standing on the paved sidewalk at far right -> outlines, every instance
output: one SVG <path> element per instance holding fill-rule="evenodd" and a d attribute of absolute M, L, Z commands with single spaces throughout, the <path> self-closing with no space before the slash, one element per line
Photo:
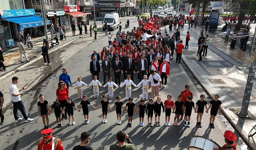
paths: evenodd
<path fill-rule="evenodd" d="M 256 58 L 255 58 L 256 53 L 255 53 L 255 49 L 256 49 L 256 28 L 255 28 L 254 37 L 253 37 L 253 40 L 252 40 L 251 66 L 250 66 L 250 69 L 249 69 L 249 74 L 248 74 L 248 77 L 247 77 L 247 82 L 246 82 L 246 86 L 245 86 L 245 90 L 244 90 L 244 94 L 243 94 L 241 112 L 238 113 L 238 115 L 241 118 L 249 117 L 247 111 L 248 111 L 248 107 L 249 107 L 250 97 L 251 97 L 251 93 L 252 93 L 252 85 L 253 85 L 253 80 L 254 80 L 255 71 L 256 71 Z"/>

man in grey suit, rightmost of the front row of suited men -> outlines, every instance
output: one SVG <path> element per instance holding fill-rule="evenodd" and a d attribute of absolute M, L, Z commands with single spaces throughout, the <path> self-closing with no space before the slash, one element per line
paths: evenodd
<path fill-rule="evenodd" d="M 139 80 L 141 82 L 142 80 L 142 75 L 147 75 L 148 73 L 148 62 L 145 59 L 145 55 L 142 54 L 141 58 L 137 62 L 137 69 L 138 69 L 138 74 L 139 74 Z"/>

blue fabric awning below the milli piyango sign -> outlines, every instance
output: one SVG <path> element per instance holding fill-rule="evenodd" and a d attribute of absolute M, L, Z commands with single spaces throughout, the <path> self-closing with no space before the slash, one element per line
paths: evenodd
<path fill-rule="evenodd" d="M 43 26 L 43 18 L 38 16 L 24 16 L 24 17 L 13 17 L 13 18 L 4 18 L 3 20 L 14 22 L 20 24 L 20 28 L 29 28 L 34 26 Z M 51 24 L 47 20 L 47 24 Z"/>

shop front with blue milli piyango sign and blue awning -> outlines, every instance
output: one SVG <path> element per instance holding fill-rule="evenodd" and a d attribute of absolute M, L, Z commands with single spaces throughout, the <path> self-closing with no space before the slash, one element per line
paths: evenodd
<path fill-rule="evenodd" d="M 38 28 L 43 26 L 43 18 L 35 14 L 34 9 L 22 9 L 22 10 L 4 10 L 3 15 L 1 15 L 1 25 L 0 25 L 0 36 L 2 37 L 0 46 L 2 48 L 14 46 L 14 42 L 4 41 L 17 41 L 18 33 L 22 35 L 31 33 L 33 28 Z M 47 20 L 47 25 L 50 21 Z M 43 32 L 43 30 L 41 30 Z M 5 45 L 5 46 L 4 46 Z"/>

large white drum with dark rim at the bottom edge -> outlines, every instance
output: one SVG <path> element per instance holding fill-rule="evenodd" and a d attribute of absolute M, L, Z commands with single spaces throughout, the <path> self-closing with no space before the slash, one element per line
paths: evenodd
<path fill-rule="evenodd" d="M 214 147 L 220 148 L 220 146 L 213 140 L 203 136 L 192 136 L 188 150 L 213 150 Z"/>

